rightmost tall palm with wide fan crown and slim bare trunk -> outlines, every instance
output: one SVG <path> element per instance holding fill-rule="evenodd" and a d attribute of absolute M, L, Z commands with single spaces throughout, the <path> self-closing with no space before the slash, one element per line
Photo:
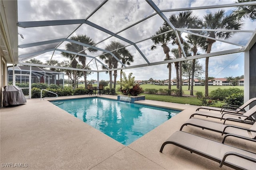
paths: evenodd
<path fill-rule="evenodd" d="M 219 10 L 218 12 L 208 13 L 204 16 L 204 20 L 202 20 L 201 25 L 205 29 L 228 29 L 228 30 L 240 30 L 242 24 L 240 21 L 236 20 L 234 14 L 224 15 L 224 10 Z M 221 38 L 221 39 L 228 39 L 230 38 L 235 32 L 220 32 L 220 31 L 206 31 L 208 37 L 211 38 Z M 216 42 L 216 40 L 207 39 L 207 50 L 206 53 L 210 53 L 212 49 L 212 44 Z M 208 64 L 209 64 L 209 57 L 205 59 L 205 96 L 208 97 Z"/>

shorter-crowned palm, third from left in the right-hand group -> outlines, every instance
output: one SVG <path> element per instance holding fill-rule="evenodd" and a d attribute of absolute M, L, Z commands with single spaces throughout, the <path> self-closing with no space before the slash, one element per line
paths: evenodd
<path fill-rule="evenodd" d="M 185 37 L 186 43 L 188 45 L 188 50 L 193 53 L 193 55 L 197 55 L 198 47 L 205 48 L 206 47 L 206 38 L 198 37 L 195 35 L 188 35 Z M 191 74 L 191 89 L 190 89 L 190 95 L 193 96 L 193 87 L 194 87 L 194 72 L 195 72 L 195 63 L 196 59 L 192 60 L 192 74 Z M 189 89 L 188 89 L 189 90 Z"/>

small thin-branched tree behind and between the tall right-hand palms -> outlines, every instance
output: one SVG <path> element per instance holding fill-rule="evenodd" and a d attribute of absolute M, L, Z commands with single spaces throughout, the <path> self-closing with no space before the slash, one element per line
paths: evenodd
<path fill-rule="evenodd" d="M 192 79 L 193 64 L 195 64 L 194 77 L 199 77 L 202 73 L 204 73 L 203 66 L 198 62 L 198 60 L 196 60 L 195 63 L 193 60 L 186 60 L 182 62 L 182 76 L 188 78 L 188 90 L 190 89 L 190 79 L 192 81 L 192 84 L 194 82 L 194 77 Z"/>

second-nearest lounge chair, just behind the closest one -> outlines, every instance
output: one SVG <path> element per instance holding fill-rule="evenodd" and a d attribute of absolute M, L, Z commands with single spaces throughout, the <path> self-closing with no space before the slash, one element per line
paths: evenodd
<path fill-rule="evenodd" d="M 241 123 L 243 123 L 243 122 L 241 122 Z M 210 121 L 206 121 L 206 120 L 202 120 L 202 119 L 193 118 L 193 119 L 188 119 L 188 121 L 186 121 L 186 123 L 184 123 L 180 127 L 180 130 L 182 130 L 182 128 L 187 125 L 191 125 L 194 127 L 200 127 L 203 130 L 207 129 L 207 130 L 212 130 L 214 132 L 219 132 L 219 133 L 221 133 L 221 135 L 232 133 L 232 134 L 244 136 L 246 138 L 256 139 L 256 123 L 253 123 L 252 127 L 250 127 L 250 129 L 248 129 L 248 128 L 243 128 L 243 127 L 239 127 L 239 126 L 224 125 L 222 123 L 210 122 Z"/>

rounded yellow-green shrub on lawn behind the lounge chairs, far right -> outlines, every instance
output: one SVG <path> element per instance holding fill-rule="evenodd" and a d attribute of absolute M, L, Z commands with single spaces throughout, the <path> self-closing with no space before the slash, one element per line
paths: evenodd
<path fill-rule="evenodd" d="M 216 89 L 214 91 L 211 91 L 209 94 L 210 99 L 214 99 L 214 100 L 221 100 L 223 101 L 224 99 L 226 99 L 226 97 L 228 97 L 229 95 L 235 94 L 235 93 L 244 93 L 243 90 L 238 89 L 238 88 L 230 88 L 230 89 Z"/>

